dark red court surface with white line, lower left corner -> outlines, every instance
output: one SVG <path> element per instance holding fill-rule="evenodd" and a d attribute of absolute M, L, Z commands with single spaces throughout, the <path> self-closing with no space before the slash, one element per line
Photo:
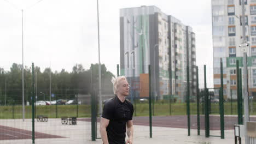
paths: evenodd
<path fill-rule="evenodd" d="M 34 132 L 34 135 L 36 139 L 64 138 L 62 136 L 49 135 L 49 134 L 38 133 L 38 132 Z M 32 139 L 32 131 L 12 128 L 12 127 L 5 127 L 3 125 L 0 125 L 0 140 L 20 140 L 20 139 Z"/>

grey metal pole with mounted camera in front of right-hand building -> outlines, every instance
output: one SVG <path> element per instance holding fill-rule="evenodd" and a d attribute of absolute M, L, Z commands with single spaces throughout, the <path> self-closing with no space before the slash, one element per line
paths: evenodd
<path fill-rule="evenodd" d="M 249 100 L 248 100 L 248 81 L 247 81 L 247 40 L 245 37 L 245 0 L 242 3 L 242 29 L 243 29 L 243 105 L 245 113 L 245 143 L 249 144 L 249 137 L 247 135 L 247 122 L 249 122 Z"/>

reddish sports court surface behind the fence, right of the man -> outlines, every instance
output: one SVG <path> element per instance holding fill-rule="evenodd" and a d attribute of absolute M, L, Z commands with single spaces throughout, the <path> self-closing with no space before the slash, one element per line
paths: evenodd
<path fill-rule="evenodd" d="M 81 118 L 78 121 L 90 122 L 90 118 Z M 256 121 L 256 118 L 250 118 L 250 121 Z M 100 122 L 100 118 L 97 119 Z M 149 117 L 133 117 L 134 125 L 149 125 Z M 224 116 L 225 129 L 234 129 L 237 124 L 236 116 Z M 188 128 L 187 116 L 153 116 L 153 127 L 170 127 L 170 128 Z M 190 128 L 197 129 L 197 116 L 190 116 Z M 200 129 L 205 129 L 205 116 L 200 116 Z M 220 117 L 210 116 L 210 130 L 220 130 Z"/>

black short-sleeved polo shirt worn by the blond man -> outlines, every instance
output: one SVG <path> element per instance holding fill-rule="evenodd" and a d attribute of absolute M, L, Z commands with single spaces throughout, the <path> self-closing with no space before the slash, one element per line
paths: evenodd
<path fill-rule="evenodd" d="M 126 123 L 132 120 L 133 105 L 125 99 L 122 103 L 117 95 L 104 104 L 102 117 L 109 119 L 107 135 L 109 144 L 125 143 Z"/>

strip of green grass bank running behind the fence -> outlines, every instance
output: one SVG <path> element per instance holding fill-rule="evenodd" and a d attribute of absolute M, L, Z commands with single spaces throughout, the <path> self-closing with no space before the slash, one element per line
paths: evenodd
<path fill-rule="evenodd" d="M 256 105 L 254 103 L 253 105 Z M 135 107 L 135 104 L 133 104 Z M 251 107 L 250 107 L 251 108 Z M 256 108 L 256 107 L 255 107 Z M 250 115 L 256 115 L 256 109 Z M 148 103 L 136 103 L 136 115 L 133 116 L 148 116 L 149 104 Z M 219 104 L 211 103 L 211 114 L 219 115 Z M 251 110 L 250 110 L 251 112 Z M 196 115 L 196 103 L 190 103 L 190 115 Z M 203 113 L 202 104 L 200 104 L 200 115 Z M 36 106 L 36 116 L 47 115 L 49 118 L 56 118 L 56 105 L 44 105 Z M 170 105 L 167 101 L 158 101 L 154 103 L 154 116 L 169 116 Z M 171 103 L 171 115 L 187 115 L 186 103 Z M 224 115 L 237 115 L 237 103 L 225 102 L 224 103 Z M 57 105 L 57 118 L 62 116 L 77 117 L 77 105 Z M 91 106 L 90 105 L 78 105 L 78 117 L 90 117 Z M 25 118 L 32 117 L 31 106 L 25 106 Z M 13 106 L 0 106 L 0 119 L 22 118 L 22 105 Z"/>

